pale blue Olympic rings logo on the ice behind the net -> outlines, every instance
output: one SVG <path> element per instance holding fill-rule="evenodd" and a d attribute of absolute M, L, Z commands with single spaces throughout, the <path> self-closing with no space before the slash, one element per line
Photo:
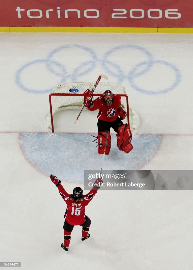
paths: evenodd
<path fill-rule="evenodd" d="M 82 59 L 85 61 L 82 62 Z M 38 69 L 38 65 L 42 64 L 49 72 L 45 79 L 49 87 L 47 89 L 39 89 L 37 86 L 35 89 L 27 87 L 29 76 L 34 77 L 35 84 L 41 85 L 36 82 L 38 81 L 36 76 L 41 76 L 42 83 L 45 72 L 43 73 L 42 68 Z M 76 68 L 72 68 L 74 65 Z M 27 92 L 48 93 L 59 83 L 80 81 L 81 76 L 89 75 L 97 65 L 101 65 L 105 74 L 113 76 L 116 79 L 114 82 L 123 83 L 124 81 L 125 84 L 126 80 L 134 90 L 144 94 L 156 95 L 169 92 L 181 80 L 180 71 L 175 65 L 163 60 L 155 60 L 152 53 L 141 46 L 116 46 L 104 53 L 100 59 L 91 48 L 81 45 L 65 45 L 54 49 L 46 59 L 33 60 L 23 65 L 16 72 L 15 81 L 22 90 Z M 51 77 L 54 77 L 52 79 L 54 84 L 50 88 Z M 167 86 L 168 77 L 169 86 Z M 23 82 L 26 80 L 27 82 Z M 43 88 L 45 87 L 46 82 Z"/>

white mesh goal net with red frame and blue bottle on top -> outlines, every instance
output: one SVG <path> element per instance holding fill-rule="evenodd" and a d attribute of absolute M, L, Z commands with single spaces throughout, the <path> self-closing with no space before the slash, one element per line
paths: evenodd
<path fill-rule="evenodd" d="M 53 115 L 60 110 L 81 110 L 84 100 L 83 93 L 87 89 L 92 90 L 95 82 L 66 82 L 57 85 L 49 95 L 50 113 L 46 117 L 47 127 L 54 132 Z M 105 90 L 111 90 L 113 94 L 121 95 L 121 103 L 129 115 L 131 130 L 139 126 L 138 114 L 128 106 L 128 97 L 125 87 L 118 83 L 99 82 L 94 90 L 93 99 L 103 95 Z M 129 108 L 129 109 L 128 109 Z M 87 108 L 85 107 L 84 110 Z"/>

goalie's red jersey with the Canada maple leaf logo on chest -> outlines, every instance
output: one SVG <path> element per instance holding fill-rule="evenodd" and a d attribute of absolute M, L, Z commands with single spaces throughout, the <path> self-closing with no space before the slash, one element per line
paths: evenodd
<path fill-rule="evenodd" d="M 97 118 L 103 121 L 113 122 L 117 119 L 117 108 L 121 106 L 121 97 L 117 94 L 113 94 L 113 101 L 110 106 L 107 106 L 104 97 L 97 97 L 92 101 L 92 107 L 88 107 L 88 110 L 99 110 Z"/>

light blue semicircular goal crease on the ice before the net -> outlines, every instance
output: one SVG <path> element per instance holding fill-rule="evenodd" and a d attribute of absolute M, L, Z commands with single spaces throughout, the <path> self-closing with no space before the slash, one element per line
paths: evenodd
<path fill-rule="evenodd" d="M 26 159 L 43 174 L 55 174 L 67 182 L 84 183 L 84 170 L 99 170 L 102 155 L 96 134 L 22 133 L 20 145 Z M 155 155 L 161 135 L 138 135 L 132 139 L 133 150 L 126 154 L 116 145 L 116 134 L 111 135 L 110 154 L 105 156 L 103 170 L 136 170 Z"/>

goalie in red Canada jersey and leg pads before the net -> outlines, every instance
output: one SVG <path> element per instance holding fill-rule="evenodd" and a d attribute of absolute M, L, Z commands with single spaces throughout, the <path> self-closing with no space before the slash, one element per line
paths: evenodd
<path fill-rule="evenodd" d="M 105 154 L 108 155 L 111 148 L 110 128 L 112 127 L 117 133 L 117 147 L 119 150 L 129 153 L 133 146 L 131 144 L 132 133 L 128 124 L 123 124 L 121 120 L 125 119 L 127 112 L 121 107 L 121 97 L 112 94 L 110 90 L 106 90 L 103 96 L 92 100 L 92 92 L 87 89 L 84 92 L 84 102 L 90 111 L 99 110 L 97 115 L 98 122 L 98 153 L 103 154 L 106 142 L 105 130 L 108 130 L 108 140 Z"/>

